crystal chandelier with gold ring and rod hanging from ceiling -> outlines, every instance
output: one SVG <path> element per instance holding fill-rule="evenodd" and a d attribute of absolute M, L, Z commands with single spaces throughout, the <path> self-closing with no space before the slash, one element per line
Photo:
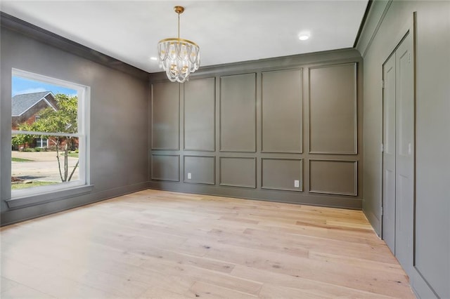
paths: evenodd
<path fill-rule="evenodd" d="M 178 14 L 178 38 L 160 40 L 158 60 L 170 81 L 183 83 L 200 66 L 200 47 L 193 41 L 180 39 L 180 14 L 184 7 L 175 6 L 174 11 Z"/>

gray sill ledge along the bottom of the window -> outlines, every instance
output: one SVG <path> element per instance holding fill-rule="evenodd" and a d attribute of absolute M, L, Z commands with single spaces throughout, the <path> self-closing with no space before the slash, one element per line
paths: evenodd
<path fill-rule="evenodd" d="M 9 208 L 24 208 L 25 206 L 35 206 L 37 204 L 46 204 L 51 201 L 68 199 L 79 195 L 87 194 L 94 189 L 94 185 L 82 185 L 64 190 L 46 192 L 41 194 L 17 197 L 6 201 Z"/>

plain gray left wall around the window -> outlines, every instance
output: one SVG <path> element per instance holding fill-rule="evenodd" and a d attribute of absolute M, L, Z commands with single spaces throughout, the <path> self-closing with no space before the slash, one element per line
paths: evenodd
<path fill-rule="evenodd" d="M 6 21 L 5 19 L 2 18 L 2 24 Z M 131 73 L 139 74 L 139 78 L 134 77 L 126 72 L 61 51 L 59 48 L 49 46 L 50 42 L 51 39 L 43 43 L 1 27 L 0 205 L 2 225 L 142 190 L 148 186 L 146 149 L 149 138 L 147 113 L 149 88 L 147 74 L 131 69 Z M 57 44 L 62 42 L 59 39 L 56 40 Z M 72 48 L 76 47 L 72 45 Z M 98 57 L 103 58 L 101 55 Z M 89 194 L 25 208 L 8 208 L 5 201 L 11 198 L 11 69 L 13 67 L 91 87 L 90 177 L 94 189 Z M 128 68 L 131 67 L 128 66 Z"/>

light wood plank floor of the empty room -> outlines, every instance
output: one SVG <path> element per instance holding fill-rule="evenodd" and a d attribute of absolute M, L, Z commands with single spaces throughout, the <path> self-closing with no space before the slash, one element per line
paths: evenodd
<path fill-rule="evenodd" d="M 413 298 L 361 211 L 146 190 L 1 229 L 1 298 Z"/>

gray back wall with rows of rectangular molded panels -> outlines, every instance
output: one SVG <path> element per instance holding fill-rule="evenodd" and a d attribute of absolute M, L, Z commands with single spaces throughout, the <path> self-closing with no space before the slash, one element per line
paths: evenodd
<path fill-rule="evenodd" d="M 203 67 L 185 84 L 152 74 L 150 187 L 361 208 L 361 71 L 341 50 Z"/>

